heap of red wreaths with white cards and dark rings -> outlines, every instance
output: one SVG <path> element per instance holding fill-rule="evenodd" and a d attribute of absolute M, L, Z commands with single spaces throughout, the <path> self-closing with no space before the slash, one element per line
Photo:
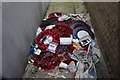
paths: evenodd
<path fill-rule="evenodd" d="M 69 65 L 74 61 L 77 64 L 78 61 L 71 58 L 73 51 L 80 48 L 87 52 L 89 45 L 94 45 L 93 41 L 94 33 L 85 22 L 53 12 L 38 28 L 30 58 L 34 66 L 44 70 L 53 69 L 61 62 Z"/>

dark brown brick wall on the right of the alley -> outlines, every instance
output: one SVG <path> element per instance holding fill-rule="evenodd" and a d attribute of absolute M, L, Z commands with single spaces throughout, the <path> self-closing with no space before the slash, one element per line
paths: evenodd
<path fill-rule="evenodd" d="M 118 3 L 85 3 L 110 77 L 120 77 Z"/>

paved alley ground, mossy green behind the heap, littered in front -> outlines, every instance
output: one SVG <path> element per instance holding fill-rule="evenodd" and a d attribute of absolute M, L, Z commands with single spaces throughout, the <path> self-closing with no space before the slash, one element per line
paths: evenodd
<path fill-rule="evenodd" d="M 50 14 L 51 12 L 55 12 L 55 11 L 62 12 L 63 14 L 68 14 L 68 13 L 86 14 L 87 13 L 87 11 L 84 7 L 84 4 L 80 3 L 80 2 L 79 3 L 76 3 L 76 2 L 75 3 L 74 2 L 69 2 L 69 3 L 52 2 L 49 4 L 46 15 Z M 45 17 L 46 17 L 46 15 L 45 15 Z M 86 16 L 85 18 L 89 19 L 89 15 Z M 90 23 L 90 20 L 88 20 L 87 23 L 90 26 L 92 26 Z M 99 49 L 97 40 L 96 40 L 96 48 Z M 100 61 L 96 64 L 96 70 L 97 70 L 98 78 L 108 78 L 109 77 L 109 74 L 107 72 L 107 67 L 105 65 L 105 62 L 104 62 L 104 59 L 102 56 L 100 58 Z M 62 69 L 59 70 L 58 68 L 50 70 L 50 71 L 41 71 L 41 72 L 34 73 L 34 66 L 32 66 L 32 64 L 28 64 L 24 77 L 25 78 L 28 78 L 28 77 L 30 77 L 30 78 L 49 78 L 49 77 L 51 77 L 50 75 L 53 75 L 52 72 L 54 72 L 54 75 L 62 75 L 59 77 L 66 77 L 66 78 L 73 78 L 75 75 L 75 74 L 70 73 L 67 70 L 62 70 Z"/>

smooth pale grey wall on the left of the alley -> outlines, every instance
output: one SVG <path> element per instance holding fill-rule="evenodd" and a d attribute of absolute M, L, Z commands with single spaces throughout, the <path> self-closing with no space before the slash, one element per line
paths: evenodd
<path fill-rule="evenodd" d="M 48 3 L 2 3 L 2 76 L 20 78 Z"/>

